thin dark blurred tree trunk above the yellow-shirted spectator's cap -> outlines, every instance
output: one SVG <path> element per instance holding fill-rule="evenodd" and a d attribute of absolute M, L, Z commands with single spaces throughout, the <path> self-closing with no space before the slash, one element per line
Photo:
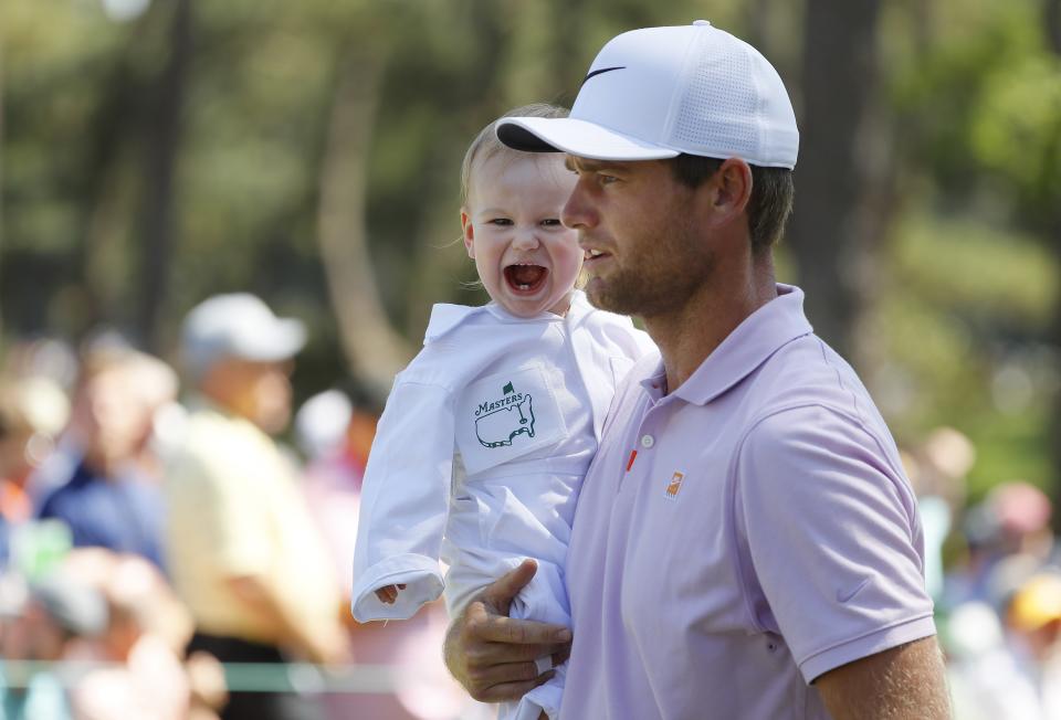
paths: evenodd
<path fill-rule="evenodd" d="M 180 147 L 181 115 L 192 53 L 191 0 L 174 0 L 169 56 L 155 88 L 149 113 L 145 162 L 145 198 L 140 232 L 140 304 L 137 331 L 145 346 L 158 351 L 161 317 L 169 292 L 174 251 L 174 176 Z"/>

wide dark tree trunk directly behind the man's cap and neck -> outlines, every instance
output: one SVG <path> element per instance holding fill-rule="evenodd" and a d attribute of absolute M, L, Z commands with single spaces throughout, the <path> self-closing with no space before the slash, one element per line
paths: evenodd
<path fill-rule="evenodd" d="M 868 212 L 873 163 L 886 158 L 872 133 L 878 88 L 879 0 L 808 0 L 803 117 L 796 168 L 796 210 L 788 236 L 807 315 L 839 352 L 854 350 L 853 329 L 872 292 L 871 243 L 882 215 Z"/>

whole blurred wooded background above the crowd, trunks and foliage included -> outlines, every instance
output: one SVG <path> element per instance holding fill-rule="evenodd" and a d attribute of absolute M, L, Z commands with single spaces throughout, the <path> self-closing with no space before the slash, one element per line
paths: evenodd
<path fill-rule="evenodd" d="M 297 401 L 378 402 L 432 303 L 483 301 L 454 244 L 479 128 L 569 105 L 613 34 L 696 18 L 789 87 L 780 279 L 968 571 L 991 488 L 1061 485 L 1059 0 L 3 0 L 9 371 L 28 342 L 104 331 L 178 363 L 183 314 L 249 290 L 309 326 Z"/>

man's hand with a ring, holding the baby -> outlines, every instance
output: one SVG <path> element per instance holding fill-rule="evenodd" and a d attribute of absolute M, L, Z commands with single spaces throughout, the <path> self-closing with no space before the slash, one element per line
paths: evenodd
<path fill-rule="evenodd" d="M 445 665 L 481 702 L 518 700 L 554 675 L 551 670 L 538 675 L 535 659 L 551 655 L 556 666 L 570 653 L 571 632 L 563 625 L 508 617 L 512 599 L 537 569 L 533 560 L 525 560 L 487 585 L 447 633 Z"/>

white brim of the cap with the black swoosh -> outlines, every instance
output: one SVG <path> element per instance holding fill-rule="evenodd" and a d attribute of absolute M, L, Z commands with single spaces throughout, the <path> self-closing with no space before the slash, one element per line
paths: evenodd
<path fill-rule="evenodd" d="M 574 117 L 506 117 L 497 139 L 526 152 L 568 152 L 591 160 L 661 160 L 677 150 L 638 140 Z"/>

